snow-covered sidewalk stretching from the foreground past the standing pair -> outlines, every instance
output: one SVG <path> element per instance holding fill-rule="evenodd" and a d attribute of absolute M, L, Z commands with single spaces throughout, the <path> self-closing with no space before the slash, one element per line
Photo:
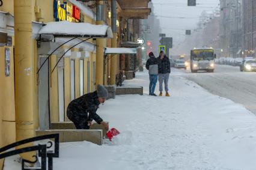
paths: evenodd
<path fill-rule="evenodd" d="M 171 74 L 171 97 L 148 96 L 146 72 L 126 80 L 145 95 L 117 96 L 100 107 L 121 132 L 114 144 L 61 144 L 54 169 L 256 169 L 255 115 L 179 74 Z"/>

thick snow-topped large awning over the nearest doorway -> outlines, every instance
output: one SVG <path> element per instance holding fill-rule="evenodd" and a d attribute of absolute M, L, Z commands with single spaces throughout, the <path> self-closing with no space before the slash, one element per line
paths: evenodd
<path fill-rule="evenodd" d="M 113 38 L 112 29 L 108 25 L 72 23 L 67 21 L 46 23 L 38 34 L 53 35 L 54 37 Z"/>

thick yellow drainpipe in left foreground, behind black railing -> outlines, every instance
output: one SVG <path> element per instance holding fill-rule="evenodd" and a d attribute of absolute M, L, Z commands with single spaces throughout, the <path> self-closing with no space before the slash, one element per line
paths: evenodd
<path fill-rule="evenodd" d="M 34 0 L 14 0 L 15 35 L 15 106 L 16 141 L 34 136 L 35 100 L 35 40 L 32 38 L 32 20 L 35 18 Z M 36 118 L 36 117 L 35 117 Z M 29 146 L 32 144 L 28 144 Z M 33 160 L 34 153 L 21 154 Z"/>

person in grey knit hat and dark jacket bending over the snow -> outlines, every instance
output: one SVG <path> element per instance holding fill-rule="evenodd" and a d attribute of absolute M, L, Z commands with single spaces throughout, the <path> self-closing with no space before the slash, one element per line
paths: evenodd
<path fill-rule="evenodd" d="M 96 114 L 100 103 L 103 104 L 107 97 L 108 90 L 97 85 L 97 90 L 93 93 L 85 94 L 69 103 L 67 117 L 75 124 L 76 129 L 90 129 L 91 121 L 94 120 L 108 130 L 108 124 Z"/>

